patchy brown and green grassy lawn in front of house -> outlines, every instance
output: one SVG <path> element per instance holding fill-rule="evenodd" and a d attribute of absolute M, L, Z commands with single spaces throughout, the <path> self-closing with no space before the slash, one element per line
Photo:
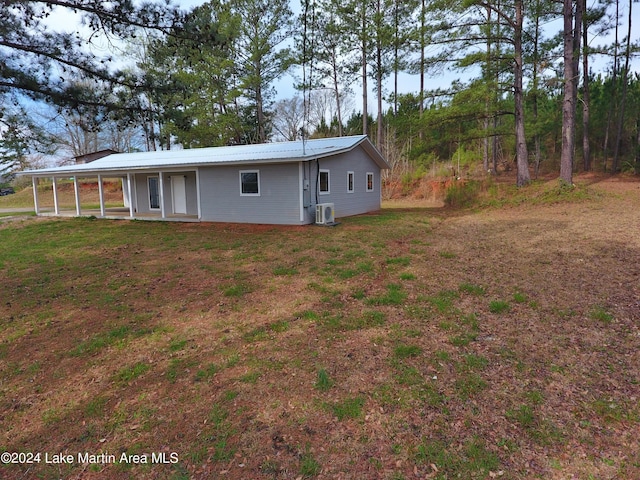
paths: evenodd
<path fill-rule="evenodd" d="M 640 478 L 638 185 L 0 223 L 0 477 Z"/>

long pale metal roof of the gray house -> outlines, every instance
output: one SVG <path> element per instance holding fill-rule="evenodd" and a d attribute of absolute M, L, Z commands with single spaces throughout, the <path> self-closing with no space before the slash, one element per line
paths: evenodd
<path fill-rule="evenodd" d="M 380 168 L 389 168 L 389 164 L 369 139 L 365 135 L 357 135 L 307 140 L 304 144 L 302 141 L 296 141 L 187 150 L 114 153 L 91 163 L 27 170 L 21 172 L 21 175 L 95 175 L 102 172 L 114 173 L 211 165 L 288 163 L 337 155 L 348 152 L 358 145 L 362 145 Z"/>

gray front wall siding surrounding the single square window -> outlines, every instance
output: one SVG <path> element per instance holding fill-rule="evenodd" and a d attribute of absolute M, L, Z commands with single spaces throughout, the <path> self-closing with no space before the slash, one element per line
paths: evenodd
<path fill-rule="evenodd" d="M 240 194 L 240 171 L 260 172 L 260 195 Z M 300 180 L 297 163 L 218 166 L 200 169 L 202 220 L 299 225 Z"/>

